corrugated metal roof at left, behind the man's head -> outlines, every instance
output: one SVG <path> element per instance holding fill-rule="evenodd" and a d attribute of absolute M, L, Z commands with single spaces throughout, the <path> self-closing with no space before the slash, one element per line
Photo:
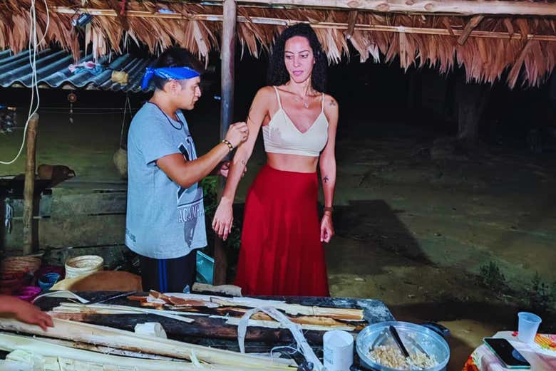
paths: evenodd
<path fill-rule="evenodd" d="M 78 63 L 93 61 L 93 56 L 88 55 Z M 154 58 L 135 58 L 129 54 L 122 56 L 103 56 L 98 63 L 103 66 L 103 71 L 93 74 L 90 70 L 79 69 L 71 72 L 68 66 L 73 63 L 71 55 L 66 51 L 45 49 L 36 56 L 36 73 L 38 86 L 41 88 L 86 88 L 113 91 L 141 90 L 141 79 L 145 68 L 153 63 Z M 77 63 L 76 63 L 77 64 Z M 112 71 L 123 70 L 128 73 L 128 83 L 123 85 L 112 81 Z M 0 51 L 0 85 L 24 85 L 31 87 L 31 64 L 29 51 L 24 51 L 16 56 L 10 50 Z"/>

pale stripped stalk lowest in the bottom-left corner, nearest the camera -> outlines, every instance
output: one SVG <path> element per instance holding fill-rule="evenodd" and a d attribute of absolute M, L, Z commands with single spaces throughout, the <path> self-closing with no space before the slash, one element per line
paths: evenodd
<path fill-rule="evenodd" d="M 0 348 L 10 352 L 23 350 L 32 355 L 42 357 L 65 358 L 66 360 L 76 360 L 86 364 L 111 365 L 116 367 L 131 367 L 132 370 L 144 371 L 189 371 L 189 370 L 211 370 L 211 371 L 265 371 L 269 366 L 251 365 L 194 365 L 190 362 L 164 361 L 164 360 L 145 360 L 118 355 L 103 355 L 88 350 L 73 349 L 61 345 L 50 344 L 41 340 L 27 338 L 17 335 L 0 333 Z M 195 352 L 197 355 L 197 353 Z M 197 355 L 198 357 L 198 355 Z M 230 362 L 231 363 L 231 362 Z M 76 369 L 84 369 L 86 365 L 81 365 Z M 291 370 L 295 370 L 290 368 Z"/>

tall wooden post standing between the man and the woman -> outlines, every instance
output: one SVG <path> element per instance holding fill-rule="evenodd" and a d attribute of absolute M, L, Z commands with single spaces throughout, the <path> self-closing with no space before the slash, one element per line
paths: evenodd
<path fill-rule="evenodd" d="M 224 19 L 222 23 L 222 103 L 220 105 L 220 139 L 224 139 L 234 115 L 234 64 L 237 9 L 235 0 L 224 1 Z M 224 182 L 218 182 L 218 199 L 222 197 Z M 226 283 L 227 257 L 224 241 L 215 239 L 215 273 L 214 285 Z"/>

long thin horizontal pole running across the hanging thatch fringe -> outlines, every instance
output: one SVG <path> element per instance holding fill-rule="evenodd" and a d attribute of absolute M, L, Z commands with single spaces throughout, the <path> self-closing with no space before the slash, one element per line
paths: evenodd
<path fill-rule="evenodd" d="M 75 14 L 75 9 L 70 9 L 67 7 L 52 7 L 51 11 L 61 14 Z M 105 9 L 84 9 L 83 11 L 88 11 L 90 14 L 99 16 L 115 16 L 114 11 Z M 194 20 L 194 21 L 215 21 L 222 22 L 222 14 L 194 14 L 194 15 L 183 15 L 182 14 L 152 14 L 145 11 L 128 11 L 128 16 L 137 17 L 152 17 L 160 19 L 181 19 L 181 20 Z M 244 16 L 237 16 L 237 21 L 242 23 L 256 23 L 256 24 L 269 24 L 276 26 L 290 26 L 295 23 L 308 23 L 311 24 L 313 28 L 336 28 L 341 30 L 346 30 L 349 25 L 348 23 L 336 23 L 336 22 L 309 22 L 309 21 L 299 21 L 296 19 L 279 19 L 272 17 L 257 17 L 249 16 L 247 19 Z M 444 28 L 426 28 L 426 27 L 408 27 L 408 26 L 382 26 L 382 25 L 372 25 L 372 24 L 356 24 L 354 27 L 355 31 L 380 31 L 380 32 L 404 32 L 404 33 L 417 33 L 422 35 L 440 35 L 440 36 L 460 36 L 463 31 L 452 29 L 452 31 Z M 539 41 L 556 41 L 555 35 L 535 35 L 529 33 L 527 35 L 521 35 L 520 33 L 508 33 L 508 32 L 496 32 L 496 31 L 471 31 L 470 37 L 480 37 L 480 38 L 505 38 L 506 40 L 539 40 Z"/>

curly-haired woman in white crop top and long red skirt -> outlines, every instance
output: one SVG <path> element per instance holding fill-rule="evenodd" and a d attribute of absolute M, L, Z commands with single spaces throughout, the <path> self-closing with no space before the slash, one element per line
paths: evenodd
<path fill-rule="evenodd" d="M 323 92 L 326 56 L 307 24 L 287 28 L 270 57 L 269 85 L 253 100 L 212 228 L 226 239 L 237 184 L 262 127 L 267 164 L 245 202 L 235 284 L 247 295 L 328 296 L 322 242 L 334 235 L 338 104 Z M 320 164 L 324 215 L 316 209 Z"/>

